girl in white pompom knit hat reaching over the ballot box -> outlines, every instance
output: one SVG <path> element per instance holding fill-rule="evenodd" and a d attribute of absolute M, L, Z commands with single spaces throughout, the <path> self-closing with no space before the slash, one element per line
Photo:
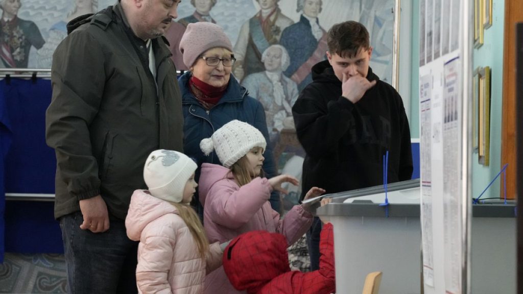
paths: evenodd
<path fill-rule="evenodd" d="M 261 166 L 267 143 L 261 132 L 246 122 L 232 120 L 203 139 L 203 153 L 216 152 L 222 165 L 203 163 L 199 180 L 199 199 L 203 205 L 203 226 L 210 242 L 225 242 L 236 236 L 265 230 L 286 236 L 288 244 L 297 241 L 311 226 L 310 207 L 294 206 L 280 219 L 269 203 L 272 190 L 287 193 L 281 184 L 298 185 L 289 175 L 267 179 Z M 313 187 L 305 199 L 319 196 L 325 190 Z M 243 293 L 230 284 L 223 267 L 209 274 L 205 293 Z"/>

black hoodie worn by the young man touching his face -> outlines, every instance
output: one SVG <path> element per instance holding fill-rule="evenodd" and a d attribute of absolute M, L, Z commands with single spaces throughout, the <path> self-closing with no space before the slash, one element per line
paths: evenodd
<path fill-rule="evenodd" d="M 383 184 L 383 155 L 389 151 L 388 183 L 412 176 L 411 134 L 403 101 L 369 67 L 376 81 L 356 104 L 342 96 L 342 82 L 327 60 L 312 68 L 313 82 L 292 107 L 305 149 L 302 199 L 317 186 L 327 193 Z"/>

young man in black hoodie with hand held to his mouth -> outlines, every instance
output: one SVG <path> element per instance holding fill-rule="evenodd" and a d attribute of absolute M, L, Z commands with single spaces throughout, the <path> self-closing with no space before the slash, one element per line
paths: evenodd
<path fill-rule="evenodd" d="M 359 22 L 346 21 L 327 35 L 327 60 L 312 67 L 313 81 L 292 107 L 306 152 L 302 191 L 317 186 L 337 193 L 382 185 L 387 151 L 388 183 L 410 179 L 405 108 L 395 89 L 369 67 L 369 32 Z M 318 269 L 320 231 L 315 218 L 307 233 L 311 270 Z"/>

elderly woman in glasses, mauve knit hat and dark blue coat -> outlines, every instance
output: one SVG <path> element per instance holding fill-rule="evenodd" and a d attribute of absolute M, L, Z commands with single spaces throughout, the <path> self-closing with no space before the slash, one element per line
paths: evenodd
<path fill-rule="evenodd" d="M 200 150 L 200 141 L 210 138 L 215 130 L 231 120 L 249 123 L 263 133 L 269 143 L 269 133 L 263 105 L 251 96 L 231 76 L 234 64 L 232 44 L 225 32 L 211 22 L 189 24 L 180 41 L 180 51 L 189 71 L 179 77 L 184 112 L 184 151 L 202 163 L 221 164 L 213 152 L 206 156 Z M 272 149 L 267 144 L 263 169 L 266 176 L 276 175 Z M 199 179 L 200 168 L 196 171 Z M 203 209 L 195 195 L 198 213 Z M 274 210 L 280 211 L 280 199 L 272 193 L 270 203 Z"/>

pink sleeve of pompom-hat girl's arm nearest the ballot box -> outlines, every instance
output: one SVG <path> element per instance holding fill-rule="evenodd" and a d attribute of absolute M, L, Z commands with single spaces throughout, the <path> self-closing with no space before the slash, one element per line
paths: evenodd
<path fill-rule="evenodd" d="M 289 245 L 294 244 L 305 234 L 312 224 L 312 214 L 305 211 L 301 205 L 295 205 L 283 219 L 280 214 L 272 210 L 272 219 L 275 222 L 276 231 L 287 238 Z"/>

